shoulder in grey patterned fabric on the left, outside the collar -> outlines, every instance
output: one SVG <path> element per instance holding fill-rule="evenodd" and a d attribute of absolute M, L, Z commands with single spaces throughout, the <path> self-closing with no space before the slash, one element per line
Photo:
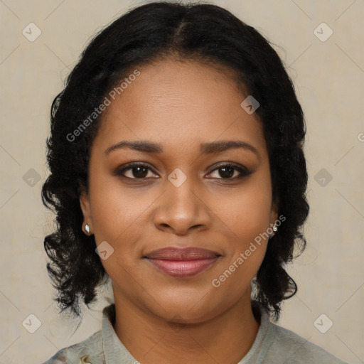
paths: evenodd
<path fill-rule="evenodd" d="M 84 341 L 59 350 L 43 364 L 61 363 L 105 364 L 102 332 L 97 331 Z"/>

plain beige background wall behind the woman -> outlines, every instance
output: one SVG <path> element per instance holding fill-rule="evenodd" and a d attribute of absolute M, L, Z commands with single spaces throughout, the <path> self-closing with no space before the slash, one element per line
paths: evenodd
<path fill-rule="evenodd" d="M 306 113 L 308 246 L 289 267 L 299 292 L 284 304 L 279 324 L 348 363 L 364 363 L 364 1 L 214 2 L 277 45 Z M 53 216 L 40 197 L 45 138 L 50 103 L 87 41 L 133 4 L 142 2 L 0 1 L 0 363 L 41 363 L 100 329 L 105 301 L 85 313 L 73 335 L 73 324 L 52 306 L 43 237 Z M 22 34 L 31 22 L 42 32 L 33 42 Z M 314 33 L 322 22 L 333 30 L 324 42 Z M 34 186 L 31 168 L 41 178 Z M 29 314 L 41 321 L 35 333 L 22 326 Z M 321 314 L 321 330 L 333 321 L 326 333 L 314 326 Z"/>

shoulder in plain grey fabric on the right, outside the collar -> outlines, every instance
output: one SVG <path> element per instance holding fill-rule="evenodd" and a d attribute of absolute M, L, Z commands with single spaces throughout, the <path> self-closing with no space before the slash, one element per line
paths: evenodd
<path fill-rule="evenodd" d="M 267 357 L 287 360 L 287 364 L 346 364 L 323 348 L 274 323 L 269 323 L 267 341 L 270 342 Z"/>

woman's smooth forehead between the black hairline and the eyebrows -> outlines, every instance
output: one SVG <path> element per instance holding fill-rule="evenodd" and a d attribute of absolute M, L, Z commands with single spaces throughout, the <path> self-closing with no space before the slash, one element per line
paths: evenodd
<path fill-rule="evenodd" d="M 231 71 L 174 60 L 137 70 L 137 77 L 107 95 L 110 104 L 102 116 L 97 146 L 106 149 L 122 139 L 149 139 L 166 145 L 166 150 L 182 150 L 204 141 L 242 139 L 265 149 L 262 123 L 240 106 L 247 95 L 238 90 Z"/>

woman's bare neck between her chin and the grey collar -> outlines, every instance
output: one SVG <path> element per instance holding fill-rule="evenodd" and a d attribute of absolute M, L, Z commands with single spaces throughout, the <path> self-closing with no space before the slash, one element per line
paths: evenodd
<path fill-rule="evenodd" d="M 252 347 L 259 329 L 250 296 L 200 323 L 171 323 L 117 297 L 115 311 L 115 333 L 143 364 L 236 364 Z"/>

